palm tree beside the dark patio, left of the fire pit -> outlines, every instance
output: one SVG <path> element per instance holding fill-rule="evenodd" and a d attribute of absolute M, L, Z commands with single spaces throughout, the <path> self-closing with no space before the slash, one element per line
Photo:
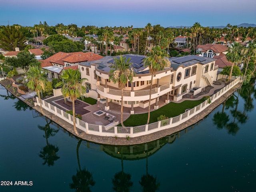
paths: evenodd
<path fill-rule="evenodd" d="M 84 96 L 86 93 L 86 84 L 84 83 L 84 80 L 87 79 L 81 79 L 79 70 L 72 70 L 71 68 L 64 70 L 62 72 L 61 78 L 63 81 L 58 82 L 56 87 L 62 86 L 62 95 L 65 99 L 70 98 L 72 102 L 74 132 L 79 135 L 78 131 L 76 130 L 75 100 L 81 96 Z"/>

